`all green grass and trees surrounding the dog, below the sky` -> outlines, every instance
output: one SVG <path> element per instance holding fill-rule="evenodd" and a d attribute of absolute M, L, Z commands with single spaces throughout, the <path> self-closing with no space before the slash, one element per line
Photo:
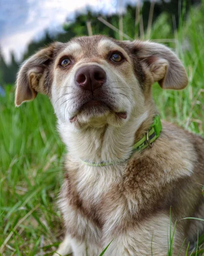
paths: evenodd
<path fill-rule="evenodd" d="M 194 6 L 161 2 L 145 2 L 141 8 L 127 6 L 123 16 L 103 19 L 91 12 L 80 14 L 55 39 L 102 33 L 117 39 L 150 38 L 172 47 L 186 67 L 189 86 L 178 92 L 163 91 L 155 84 L 156 105 L 163 119 L 204 136 L 204 2 Z M 40 42 L 32 42 L 23 59 L 53 39 L 46 33 Z M 6 90 L 6 96 L 0 98 L 0 255 L 52 255 L 63 237 L 56 198 L 65 148 L 46 96 L 38 95 L 34 102 L 14 108 L 14 87 L 6 85 L 13 84 L 18 65 L 14 55 L 9 65 L 0 59 L 0 81 Z M 203 241 L 201 236 L 200 248 Z M 193 255 L 204 256 L 204 250 Z"/>

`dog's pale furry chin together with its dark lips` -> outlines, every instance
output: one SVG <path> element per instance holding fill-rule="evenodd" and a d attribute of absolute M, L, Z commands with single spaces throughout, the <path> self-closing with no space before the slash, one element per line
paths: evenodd
<path fill-rule="evenodd" d="M 103 126 L 120 126 L 124 123 L 126 112 L 117 112 L 104 102 L 91 100 L 84 104 L 78 113 L 73 115 L 69 121 L 77 128 L 91 126 L 101 128 Z"/>

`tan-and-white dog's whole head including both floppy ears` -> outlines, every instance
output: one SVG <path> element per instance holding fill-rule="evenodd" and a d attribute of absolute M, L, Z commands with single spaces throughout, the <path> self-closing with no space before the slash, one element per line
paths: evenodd
<path fill-rule="evenodd" d="M 167 47 L 105 36 L 74 38 L 41 49 L 21 67 L 18 106 L 44 93 L 58 119 L 73 127 L 120 126 L 143 113 L 151 102 L 151 85 L 183 89 L 187 74 Z"/>

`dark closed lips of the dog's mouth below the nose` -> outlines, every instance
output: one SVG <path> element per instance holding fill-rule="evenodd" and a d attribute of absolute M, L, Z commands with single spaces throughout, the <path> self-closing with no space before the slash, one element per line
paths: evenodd
<path fill-rule="evenodd" d="M 103 113 L 112 112 L 112 113 L 115 113 L 115 115 L 118 116 L 118 118 L 120 119 L 127 118 L 127 113 L 125 111 L 122 111 L 122 112 L 113 111 L 111 106 L 107 105 L 105 102 L 98 99 L 97 100 L 91 99 L 88 102 L 84 103 L 80 107 L 79 113 L 82 113 L 82 112 L 87 116 L 100 116 Z M 69 119 L 71 123 L 77 120 L 77 115 L 78 114 L 75 114 Z"/>

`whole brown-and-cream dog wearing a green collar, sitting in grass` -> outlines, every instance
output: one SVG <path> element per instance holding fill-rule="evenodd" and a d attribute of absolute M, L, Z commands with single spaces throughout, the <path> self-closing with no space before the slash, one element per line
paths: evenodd
<path fill-rule="evenodd" d="M 15 105 L 46 94 L 67 148 L 55 255 L 184 256 L 204 231 L 204 139 L 160 121 L 152 84 L 180 90 L 178 57 L 150 41 L 54 42 L 17 76 Z M 183 220 L 182 220 L 183 219 Z M 170 236 L 171 234 L 171 236 Z"/>

